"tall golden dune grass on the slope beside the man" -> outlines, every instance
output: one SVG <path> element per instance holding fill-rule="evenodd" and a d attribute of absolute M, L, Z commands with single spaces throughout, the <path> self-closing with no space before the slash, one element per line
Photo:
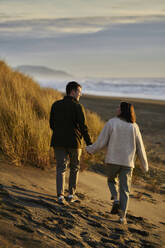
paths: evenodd
<path fill-rule="evenodd" d="M 0 61 L 0 153 L 15 165 L 49 167 L 49 113 L 54 101 L 62 98 L 56 90 L 41 88 L 29 76 L 12 70 Z M 89 130 L 97 137 L 103 122 L 87 110 Z"/>

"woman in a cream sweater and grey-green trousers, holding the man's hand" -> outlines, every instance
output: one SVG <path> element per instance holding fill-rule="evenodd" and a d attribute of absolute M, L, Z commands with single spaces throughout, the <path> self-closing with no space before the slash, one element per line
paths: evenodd
<path fill-rule="evenodd" d="M 108 186 L 111 199 L 114 200 L 111 214 L 119 214 L 119 222 L 125 224 L 136 154 L 144 171 L 148 171 L 147 156 L 132 104 L 121 102 L 117 116 L 105 124 L 97 141 L 87 146 L 86 150 L 88 153 L 94 153 L 105 146 Z M 120 197 L 116 185 L 117 177 Z"/>

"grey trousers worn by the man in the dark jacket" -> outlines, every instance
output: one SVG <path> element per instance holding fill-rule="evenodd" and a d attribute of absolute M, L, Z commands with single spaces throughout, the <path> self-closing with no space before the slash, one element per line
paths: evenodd
<path fill-rule="evenodd" d="M 69 194 L 76 192 L 82 149 L 55 147 L 57 196 L 64 195 L 65 174 L 70 161 Z"/>

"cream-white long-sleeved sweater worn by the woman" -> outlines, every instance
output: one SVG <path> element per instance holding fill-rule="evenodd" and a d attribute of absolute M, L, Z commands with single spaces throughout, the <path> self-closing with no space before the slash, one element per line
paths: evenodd
<path fill-rule="evenodd" d="M 135 154 L 139 157 L 144 171 L 148 171 L 147 156 L 139 127 L 118 117 L 110 119 L 101 131 L 97 141 L 86 147 L 94 153 L 107 147 L 105 163 L 118 164 L 134 168 Z"/>

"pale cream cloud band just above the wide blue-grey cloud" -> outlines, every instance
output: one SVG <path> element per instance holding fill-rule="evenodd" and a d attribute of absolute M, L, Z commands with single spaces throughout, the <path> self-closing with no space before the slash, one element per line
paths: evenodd
<path fill-rule="evenodd" d="M 68 34 L 96 33 L 117 24 L 164 20 L 165 15 L 9 20 L 0 21 L 0 33 L 1 37 L 13 37 L 14 32 L 17 37 L 23 38 L 57 37 Z"/>

